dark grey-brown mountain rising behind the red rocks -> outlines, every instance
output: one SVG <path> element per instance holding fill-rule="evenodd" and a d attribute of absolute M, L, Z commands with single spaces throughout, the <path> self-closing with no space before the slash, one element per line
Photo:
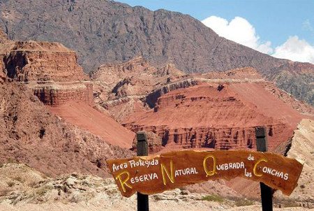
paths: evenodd
<path fill-rule="evenodd" d="M 8 38 L 63 43 L 78 52 L 87 72 L 139 55 L 186 73 L 252 66 L 313 105 L 313 64 L 276 59 L 228 41 L 189 15 L 105 0 L 1 0 L 0 10 Z"/>

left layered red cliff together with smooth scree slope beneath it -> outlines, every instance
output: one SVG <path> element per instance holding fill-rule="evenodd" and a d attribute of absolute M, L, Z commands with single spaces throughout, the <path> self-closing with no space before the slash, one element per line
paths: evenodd
<path fill-rule="evenodd" d="M 10 45 L 9 45 L 10 44 Z M 77 64 L 76 53 L 59 43 L 12 42 L 3 38 L 3 71 L 19 82 L 66 122 L 130 148 L 135 134 L 93 108 L 93 84 Z"/>

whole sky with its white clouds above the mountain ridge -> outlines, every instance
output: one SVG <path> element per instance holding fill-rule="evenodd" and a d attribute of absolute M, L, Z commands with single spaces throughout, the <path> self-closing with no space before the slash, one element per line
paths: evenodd
<path fill-rule="evenodd" d="M 130 6 L 144 6 L 150 10 L 163 8 L 177 11 L 200 21 L 214 16 L 204 24 L 216 32 L 219 31 L 220 36 L 246 45 L 246 41 L 233 38 L 230 34 L 248 29 L 248 38 L 251 39 L 248 47 L 278 57 L 292 57 L 287 59 L 294 61 L 308 59 L 314 63 L 314 0 L 120 0 L 120 2 L 128 3 Z M 241 18 L 234 19 L 235 17 Z M 256 43 L 252 43 L 254 42 L 252 39 L 255 39 Z M 301 46 L 302 49 L 300 47 L 295 50 L 296 46 Z"/>

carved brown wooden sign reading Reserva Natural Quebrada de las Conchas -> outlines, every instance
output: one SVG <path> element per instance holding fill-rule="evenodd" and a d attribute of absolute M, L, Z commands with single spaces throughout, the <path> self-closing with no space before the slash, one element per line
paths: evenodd
<path fill-rule="evenodd" d="M 278 154 L 250 151 L 184 150 L 147 157 L 107 160 L 121 194 L 158 194 L 207 180 L 244 177 L 290 195 L 303 165 Z"/>

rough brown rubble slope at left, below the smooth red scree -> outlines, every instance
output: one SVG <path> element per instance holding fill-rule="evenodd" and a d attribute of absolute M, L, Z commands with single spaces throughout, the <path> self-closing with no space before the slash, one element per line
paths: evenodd
<path fill-rule="evenodd" d="M 0 163 L 27 163 L 47 175 L 76 171 L 100 177 L 107 175 L 105 159 L 133 154 L 66 124 L 17 82 L 0 84 L 0 149 Z"/>

